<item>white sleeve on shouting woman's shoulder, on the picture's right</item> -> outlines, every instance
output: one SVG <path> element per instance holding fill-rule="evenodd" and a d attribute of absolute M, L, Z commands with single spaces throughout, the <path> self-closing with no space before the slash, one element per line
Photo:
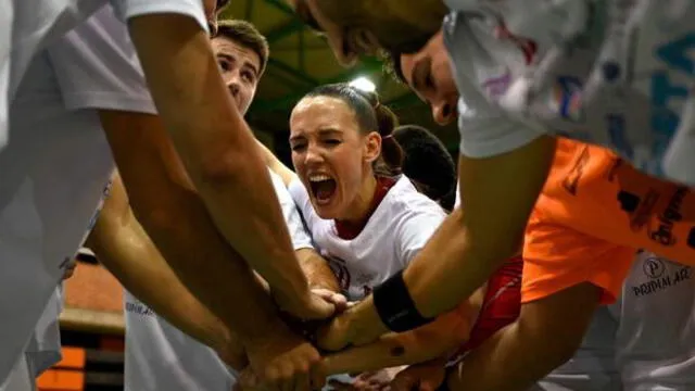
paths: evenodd
<path fill-rule="evenodd" d="M 396 251 L 404 265 L 413 261 L 437 231 L 446 215 L 441 210 L 413 212 L 396 226 Z"/>

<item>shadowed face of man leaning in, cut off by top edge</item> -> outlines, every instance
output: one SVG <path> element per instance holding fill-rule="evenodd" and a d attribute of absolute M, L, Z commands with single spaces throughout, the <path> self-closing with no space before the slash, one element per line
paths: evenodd
<path fill-rule="evenodd" d="M 441 0 L 288 0 L 308 26 L 328 38 L 336 58 L 352 65 L 380 49 L 412 53 L 439 29 Z"/>

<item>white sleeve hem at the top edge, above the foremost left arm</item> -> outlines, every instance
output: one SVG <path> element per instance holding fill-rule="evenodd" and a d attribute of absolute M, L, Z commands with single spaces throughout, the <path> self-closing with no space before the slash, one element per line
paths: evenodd
<path fill-rule="evenodd" d="M 210 33 L 203 0 L 111 0 L 111 3 L 123 22 L 140 15 L 175 13 L 192 17 Z"/>

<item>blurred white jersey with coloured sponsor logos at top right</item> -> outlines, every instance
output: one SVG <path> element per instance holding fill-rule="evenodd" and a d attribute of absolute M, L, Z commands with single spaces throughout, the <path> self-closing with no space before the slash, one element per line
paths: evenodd
<path fill-rule="evenodd" d="M 496 155 L 547 133 L 695 184 L 695 2 L 445 3 L 463 154 Z"/>

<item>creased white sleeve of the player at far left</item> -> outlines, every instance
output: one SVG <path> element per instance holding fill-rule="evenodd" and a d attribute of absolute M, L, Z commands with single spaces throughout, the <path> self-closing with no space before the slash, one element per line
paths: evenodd
<path fill-rule="evenodd" d="M 48 48 L 66 109 L 156 113 L 126 26 L 104 5 Z"/>

